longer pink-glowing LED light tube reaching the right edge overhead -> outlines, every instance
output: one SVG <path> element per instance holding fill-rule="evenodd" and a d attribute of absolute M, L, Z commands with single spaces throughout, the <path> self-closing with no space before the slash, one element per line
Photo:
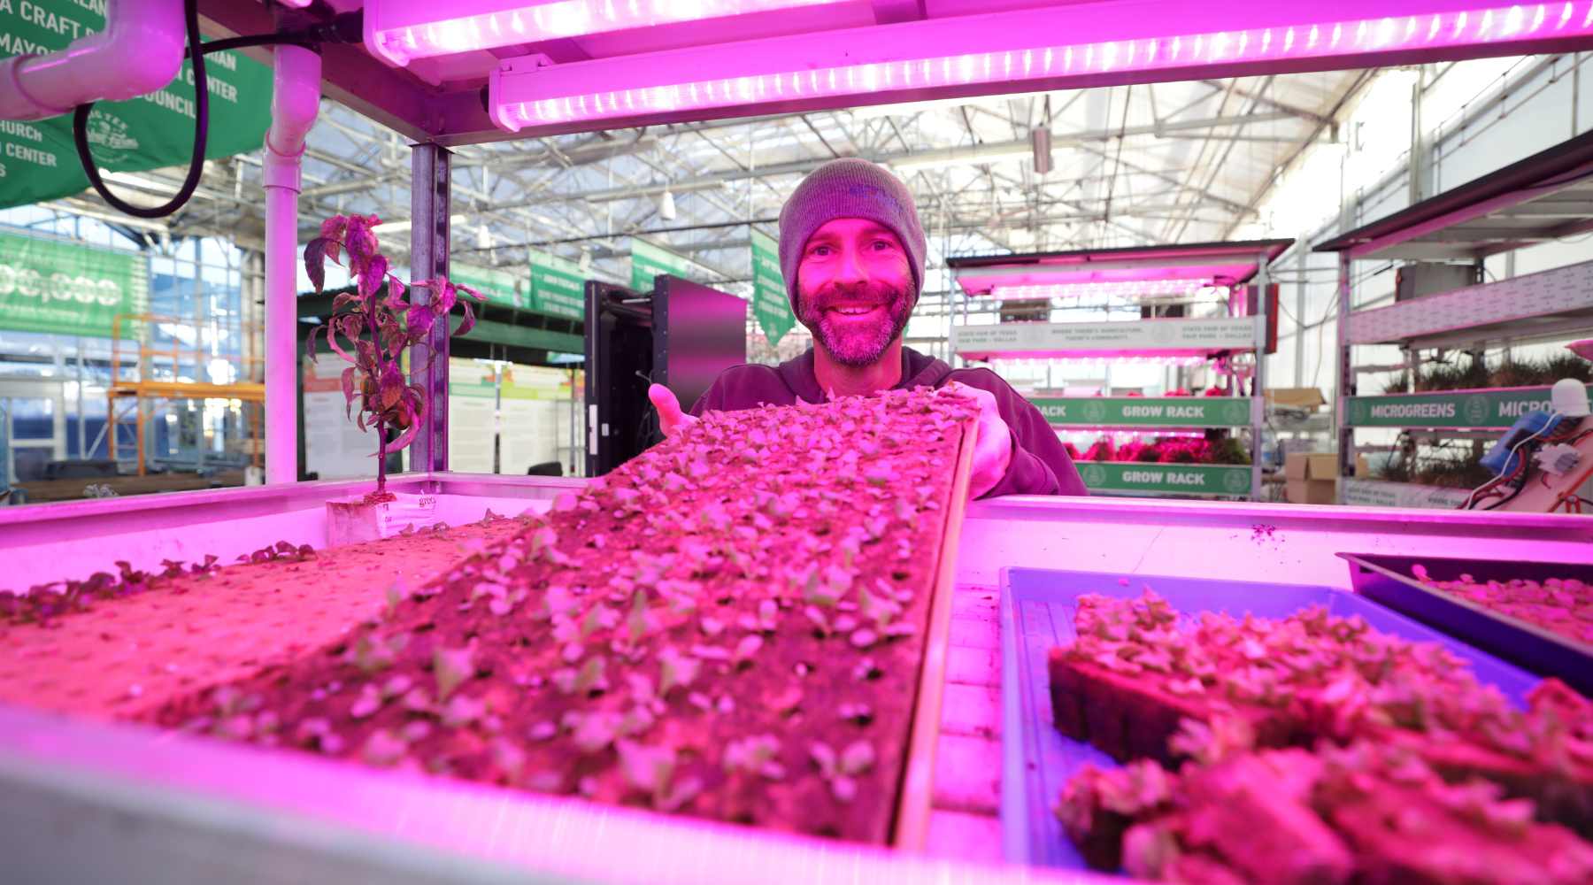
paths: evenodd
<path fill-rule="evenodd" d="M 1050 88 L 1067 78 L 1131 80 L 1136 73 L 1247 64 L 1292 64 L 1298 70 L 1311 70 L 1316 67 L 1313 59 L 1340 56 L 1389 60 L 1469 46 L 1496 46 L 1501 54 L 1529 53 L 1534 43 L 1593 37 L 1593 2 L 1458 8 L 1462 5 L 1415 3 L 1438 11 L 1233 30 L 1195 27 L 1214 16 L 1222 16 L 1223 22 L 1282 22 L 1313 5 L 1195 3 L 1193 6 L 1201 6 L 1204 18 L 1177 13 L 1180 18 L 1168 24 L 1102 22 L 1099 14 L 1090 19 L 1086 6 L 1063 6 L 969 16 L 967 22 L 935 19 L 860 29 L 876 32 L 873 40 L 865 40 L 868 35 L 846 37 L 846 32 L 835 32 L 803 35 L 811 38 L 806 41 L 771 38 L 736 46 L 677 49 L 652 57 L 613 57 L 548 67 L 507 60 L 491 75 L 489 111 L 499 126 L 518 132 L 526 126 L 773 102 L 876 94 L 933 96 L 937 91 L 981 84 L 1021 88 L 1026 83 L 1048 83 Z M 1388 6 L 1391 3 L 1340 3 L 1332 8 L 1346 10 L 1348 14 L 1375 13 Z M 1180 27 L 1190 30 L 1125 40 L 1043 41 L 1051 33 L 1128 33 L 1136 29 L 1147 32 Z M 902 38 L 889 40 L 886 29 L 903 29 Z M 918 30 L 910 33 L 906 29 Z M 914 35 L 922 40 L 911 38 Z"/>

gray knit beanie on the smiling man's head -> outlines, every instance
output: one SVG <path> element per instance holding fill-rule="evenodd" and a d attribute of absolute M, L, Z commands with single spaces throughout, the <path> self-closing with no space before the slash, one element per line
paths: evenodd
<path fill-rule="evenodd" d="M 916 301 L 924 288 L 926 247 L 913 193 L 883 166 L 862 158 L 841 158 L 809 172 L 781 209 L 781 274 L 785 275 L 792 310 L 796 310 L 796 267 L 803 247 L 814 231 L 836 218 L 863 218 L 895 231 L 913 267 Z"/>

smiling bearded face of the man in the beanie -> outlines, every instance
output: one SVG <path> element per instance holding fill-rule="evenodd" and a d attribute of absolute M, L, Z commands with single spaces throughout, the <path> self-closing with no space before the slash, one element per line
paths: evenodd
<path fill-rule="evenodd" d="M 836 218 L 808 239 L 796 283 L 796 318 L 825 353 L 852 368 L 884 357 L 918 301 L 902 240 L 860 218 Z"/>

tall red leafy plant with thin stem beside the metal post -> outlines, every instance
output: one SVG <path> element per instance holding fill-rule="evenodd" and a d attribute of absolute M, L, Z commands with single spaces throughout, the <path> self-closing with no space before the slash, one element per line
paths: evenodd
<path fill-rule="evenodd" d="M 354 277 L 355 291 L 341 293 L 333 299 L 331 317 L 309 331 L 306 352 L 314 355 L 315 337 L 325 333 L 331 350 L 349 363 L 342 369 L 347 411 L 362 431 L 376 428 L 376 492 L 370 495 L 373 501 L 390 500 L 387 455 L 403 450 L 414 441 L 429 407 L 425 388 L 409 384 L 405 377 L 403 352 L 424 342 L 435 323 L 448 323 L 448 314 L 456 304 L 465 315 L 452 334 L 467 334 L 475 326 L 476 315 L 470 309 L 470 301 L 460 296 L 484 301 L 476 290 L 451 283 L 443 275 L 406 285 L 389 272 L 387 256 L 378 250 L 374 232 L 378 224 L 381 220 L 374 215 L 335 215 L 322 223 L 320 236 L 304 245 L 304 272 L 309 274 L 317 294 L 327 283 L 327 259 L 346 266 Z M 408 299 L 406 296 L 416 288 L 430 291 L 430 298 L 424 302 Z M 349 347 L 338 341 L 339 336 Z M 358 412 L 354 412 L 355 396 L 358 396 Z M 398 435 L 389 439 L 389 431 Z"/>

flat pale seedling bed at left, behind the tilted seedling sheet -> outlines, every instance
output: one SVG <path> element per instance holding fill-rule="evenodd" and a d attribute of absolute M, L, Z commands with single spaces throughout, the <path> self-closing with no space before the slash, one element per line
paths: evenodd
<path fill-rule="evenodd" d="M 83 581 L 0 591 L 0 702 L 129 718 L 338 640 L 381 613 L 384 589 L 421 586 L 518 519 L 314 551 L 285 541 L 244 562 L 123 562 Z M 3 581 L 3 576 L 0 576 Z"/>

